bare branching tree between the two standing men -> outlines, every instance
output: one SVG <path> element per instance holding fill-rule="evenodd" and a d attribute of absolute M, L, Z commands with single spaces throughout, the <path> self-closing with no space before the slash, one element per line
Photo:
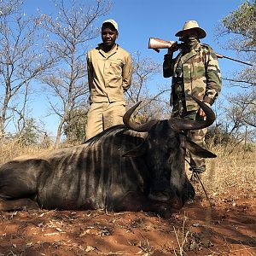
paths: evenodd
<path fill-rule="evenodd" d="M 139 101 L 143 104 L 138 108 L 139 114 L 134 117 L 137 121 L 146 122 L 148 119 L 163 119 L 170 117 L 170 81 L 165 84 L 154 84 L 149 88 L 150 81 L 160 75 L 161 64 L 155 63 L 149 58 L 143 58 L 139 52 L 132 56 L 132 85 L 127 91 L 126 102 L 128 107 Z M 149 90 L 150 89 L 150 90 Z M 149 93 L 149 91 L 153 91 Z"/>

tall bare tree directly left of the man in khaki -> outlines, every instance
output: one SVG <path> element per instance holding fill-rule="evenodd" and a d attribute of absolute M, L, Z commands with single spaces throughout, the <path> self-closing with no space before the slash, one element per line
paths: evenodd
<path fill-rule="evenodd" d="M 49 32 L 49 49 L 59 57 L 59 65 L 42 81 L 55 97 L 49 99 L 50 108 L 59 119 L 55 148 L 59 147 L 63 125 L 70 121 L 89 92 L 86 71 L 86 43 L 99 35 L 96 21 L 108 13 L 110 2 L 55 0 L 58 16 L 41 15 L 41 24 Z"/>

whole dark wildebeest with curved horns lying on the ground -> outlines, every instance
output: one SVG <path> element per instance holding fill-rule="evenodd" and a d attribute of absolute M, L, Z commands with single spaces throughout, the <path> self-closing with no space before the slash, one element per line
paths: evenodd
<path fill-rule="evenodd" d="M 211 108 L 195 101 L 207 113 L 205 121 L 172 118 L 138 125 L 131 122 L 137 104 L 125 113 L 125 125 L 82 145 L 5 163 L 0 168 L 0 210 L 143 210 L 168 216 L 172 207 L 182 207 L 195 195 L 185 174 L 186 148 L 216 156 L 183 133 L 215 119 Z"/>

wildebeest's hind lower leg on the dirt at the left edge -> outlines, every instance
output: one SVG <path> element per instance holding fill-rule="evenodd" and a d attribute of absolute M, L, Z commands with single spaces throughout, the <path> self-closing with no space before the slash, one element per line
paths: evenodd
<path fill-rule="evenodd" d="M 29 198 L 18 200 L 0 200 L 0 211 L 32 210 L 38 209 L 38 203 Z"/>

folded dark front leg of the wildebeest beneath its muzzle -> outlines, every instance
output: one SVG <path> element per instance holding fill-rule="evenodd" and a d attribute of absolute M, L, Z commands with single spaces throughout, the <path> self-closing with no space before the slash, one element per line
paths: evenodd
<path fill-rule="evenodd" d="M 117 212 L 155 212 L 162 218 L 170 218 L 172 215 L 172 207 L 169 204 L 150 200 L 148 196 L 137 192 L 127 193 L 119 203 L 115 204 L 113 210 Z"/>

